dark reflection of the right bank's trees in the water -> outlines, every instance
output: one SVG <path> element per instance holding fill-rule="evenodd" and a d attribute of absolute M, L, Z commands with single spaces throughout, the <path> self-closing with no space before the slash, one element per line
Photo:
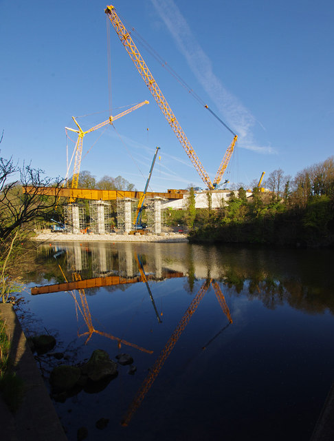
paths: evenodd
<path fill-rule="evenodd" d="M 208 250 L 232 295 L 257 298 L 271 309 L 286 302 L 309 314 L 334 314 L 333 251 L 226 245 L 205 247 L 205 255 Z"/>

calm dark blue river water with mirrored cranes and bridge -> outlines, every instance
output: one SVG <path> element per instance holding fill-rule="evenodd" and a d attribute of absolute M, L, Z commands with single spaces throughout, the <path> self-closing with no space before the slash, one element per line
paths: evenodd
<path fill-rule="evenodd" d="M 36 263 L 23 328 L 46 329 L 65 356 L 41 356 L 45 377 L 94 349 L 136 369 L 54 400 L 70 441 L 80 427 L 87 440 L 311 437 L 334 381 L 333 251 L 62 243 Z M 94 287 L 30 294 L 73 278 Z"/>

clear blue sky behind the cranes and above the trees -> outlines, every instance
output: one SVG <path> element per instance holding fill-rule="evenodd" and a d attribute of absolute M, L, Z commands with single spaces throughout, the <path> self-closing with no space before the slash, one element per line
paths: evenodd
<path fill-rule="evenodd" d="M 115 115 L 147 99 L 148 105 L 115 121 L 115 129 L 85 136 L 81 170 L 96 178 L 122 175 L 142 189 L 159 145 L 151 189 L 204 187 L 107 21 L 107 4 L 0 1 L 1 156 L 31 161 L 47 176 L 65 176 L 71 116 L 85 115 L 78 121 L 88 130 L 108 119 L 109 107 Z M 239 135 L 226 174 L 231 182 L 249 185 L 278 168 L 295 176 L 334 154 L 332 1 L 111 4 L 126 27 L 135 28 Z M 138 48 L 213 180 L 232 134 Z"/>

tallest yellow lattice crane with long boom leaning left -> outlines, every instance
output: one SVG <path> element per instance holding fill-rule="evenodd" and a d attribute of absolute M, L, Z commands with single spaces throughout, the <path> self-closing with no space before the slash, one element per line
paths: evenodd
<path fill-rule="evenodd" d="M 210 177 L 208 173 L 205 171 L 203 165 L 201 164 L 201 161 L 199 161 L 199 158 L 197 154 L 194 152 L 194 149 L 192 148 L 192 145 L 188 141 L 188 138 L 186 137 L 186 134 L 183 132 L 181 125 L 179 125 L 179 122 L 177 121 L 175 114 L 172 112 L 172 109 L 170 108 L 170 105 L 167 103 L 166 98 L 164 97 L 164 94 L 162 94 L 162 91 L 160 90 L 159 86 L 157 85 L 157 82 L 153 78 L 153 75 L 151 74 L 150 70 L 148 69 L 144 59 L 142 58 L 142 55 L 140 54 L 139 50 L 137 49 L 135 43 L 133 42 L 133 39 L 131 38 L 129 32 L 124 27 L 122 21 L 118 17 L 118 14 L 115 12 L 115 7 L 110 5 L 107 6 L 105 10 L 106 14 L 109 17 L 109 20 L 111 21 L 113 27 L 115 28 L 115 31 L 118 34 L 118 37 L 120 38 L 120 41 L 124 45 L 124 48 L 126 49 L 126 52 L 130 55 L 133 63 L 135 64 L 135 67 L 137 68 L 138 72 L 142 76 L 142 79 L 144 80 L 146 86 L 151 91 L 151 94 L 153 94 L 153 97 L 155 101 L 157 102 L 157 105 L 159 105 L 160 109 L 162 110 L 162 113 L 166 117 L 168 124 L 170 127 L 172 127 L 173 132 L 177 136 L 177 139 L 181 143 L 183 149 L 186 151 L 186 154 L 188 154 L 188 157 L 190 158 L 190 161 L 194 165 L 195 169 L 197 170 L 199 176 L 201 176 L 202 181 L 205 183 L 205 185 L 208 186 L 209 189 L 216 188 L 217 185 L 219 185 L 219 182 L 221 181 L 221 178 L 223 177 L 223 174 L 226 170 L 227 164 L 230 161 L 230 158 L 232 156 L 234 145 L 236 144 L 236 141 L 238 139 L 238 136 L 230 130 L 229 127 L 221 119 L 219 119 L 218 116 L 212 112 L 212 110 L 209 109 L 208 105 L 205 105 L 205 108 L 210 110 L 212 114 L 221 122 L 225 127 L 227 127 L 232 134 L 234 134 L 234 139 L 230 145 L 230 147 L 227 148 L 227 151 L 225 153 L 225 156 L 223 158 L 223 161 L 221 162 L 221 165 L 219 167 L 218 172 L 216 173 L 216 177 L 214 178 L 214 182 L 212 183 L 210 180 Z"/>

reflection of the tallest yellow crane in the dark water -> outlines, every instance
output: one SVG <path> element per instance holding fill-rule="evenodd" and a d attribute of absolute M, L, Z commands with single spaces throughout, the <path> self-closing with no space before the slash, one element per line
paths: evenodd
<path fill-rule="evenodd" d="M 204 294 L 206 293 L 206 291 L 208 291 L 210 285 L 212 285 L 212 288 L 214 289 L 214 294 L 216 294 L 216 298 L 219 301 L 219 305 L 221 305 L 221 309 L 223 310 L 223 313 L 227 316 L 227 319 L 229 320 L 229 325 L 233 322 L 230 314 L 230 310 L 227 307 L 225 297 L 218 283 L 216 283 L 211 278 L 208 278 L 207 280 L 205 280 L 205 282 L 201 286 L 201 289 L 199 289 L 199 292 L 190 303 L 186 312 L 183 314 L 183 317 L 179 321 L 179 324 L 175 328 L 175 331 L 172 333 L 169 340 L 166 342 L 164 349 L 162 350 L 159 357 L 155 361 L 153 367 L 150 369 L 150 373 L 148 373 L 148 376 L 146 376 L 145 380 L 142 382 L 142 386 L 137 391 L 135 398 L 133 398 L 133 401 L 131 402 L 129 409 L 126 412 L 124 419 L 122 420 L 122 426 L 127 426 L 129 424 L 131 418 L 133 417 L 133 414 L 135 413 L 135 411 L 137 411 L 138 407 L 140 407 L 140 404 L 142 404 L 142 400 L 144 400 L 146 393 L 148 393 L 149 389 L 151 389 L 151 386 L 155 381 L 155 378 L 157 378 L 160 369 L 162 369 L 164 362 L 166 362 L 170 352 L 175 347 L 177 340 L 179 340 L 183 330 L 188 325 L 188 322 L 190 321 L 192 314 L 194 314 L 194 312 L 196 311 L 197 307 L 199 306 L 199 302 L 201 302 Z"/>

